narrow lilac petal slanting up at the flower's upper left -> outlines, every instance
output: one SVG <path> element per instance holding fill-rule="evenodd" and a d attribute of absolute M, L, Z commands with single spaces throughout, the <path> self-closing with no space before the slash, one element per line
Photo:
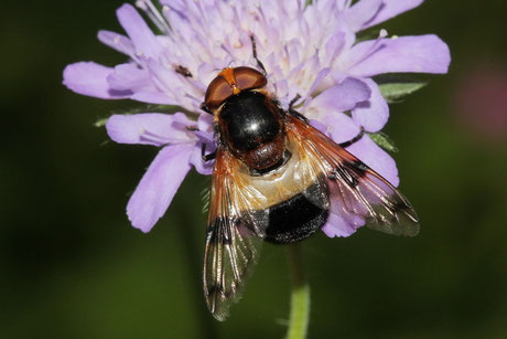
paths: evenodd
<path fill-rule="evenodd" d="M 116 14 L 137 52 L 149 57 L 158 56 L 161 53 L 162 46 L 157 41 L 155 35 L 131 4 L 121 6 Z"/>

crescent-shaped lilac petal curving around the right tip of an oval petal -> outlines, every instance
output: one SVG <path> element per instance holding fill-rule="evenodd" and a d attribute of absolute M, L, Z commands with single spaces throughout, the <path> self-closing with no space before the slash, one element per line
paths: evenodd
<path fill-rule="evenodd" d="M 367 131 L 379 131 L 389 118 L 389 106 L 380 93 L 380 88 L 373 80 L 364 78 L 363 81 L 371 89 L 371 97 L 367 102 L 357 104 L 352 110 L 352 117 Z"/>

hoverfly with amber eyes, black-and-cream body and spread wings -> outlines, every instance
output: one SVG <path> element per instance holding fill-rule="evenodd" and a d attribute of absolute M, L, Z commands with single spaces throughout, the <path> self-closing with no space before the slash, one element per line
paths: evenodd
<path fill-rule="evenodd" d="M 266 70 L 227 67 L 202 108 L 214 116 L 215 158 L 204 254 L 204 294 L 225 320 L 262 242 L 288 244 L 320 230 L 330 213 L 395 235 L 419 232 L 418 216 L 386 179 L 268 93 Z M 360 138 L 362 135 L 358 137 Z M 349 144 L 348 144 L 349 145 Z"/>

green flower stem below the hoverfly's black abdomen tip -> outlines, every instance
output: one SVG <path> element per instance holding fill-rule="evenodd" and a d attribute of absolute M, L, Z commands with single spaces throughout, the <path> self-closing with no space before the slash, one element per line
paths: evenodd
<path fill-rule="evenodd" d="M 310 318 L 310 285 L 304 274 L 301 245 L 289 245 L 288 254 L 292 280 L 292 295 L 291 316 L 287 339 L 304 339 L 306 338 Z"/>

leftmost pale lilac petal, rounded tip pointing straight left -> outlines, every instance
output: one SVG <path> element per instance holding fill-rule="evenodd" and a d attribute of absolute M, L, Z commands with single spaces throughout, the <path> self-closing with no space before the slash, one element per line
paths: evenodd
<path fill-rule="evenodd" d="M 103 99 L 122 99 L 130 97 L 130 91 L 114 91 L 107 82 L 112 68 L 94 62 L 78 62 L 65 67 L 63 84 L 78 94 Z"/>

